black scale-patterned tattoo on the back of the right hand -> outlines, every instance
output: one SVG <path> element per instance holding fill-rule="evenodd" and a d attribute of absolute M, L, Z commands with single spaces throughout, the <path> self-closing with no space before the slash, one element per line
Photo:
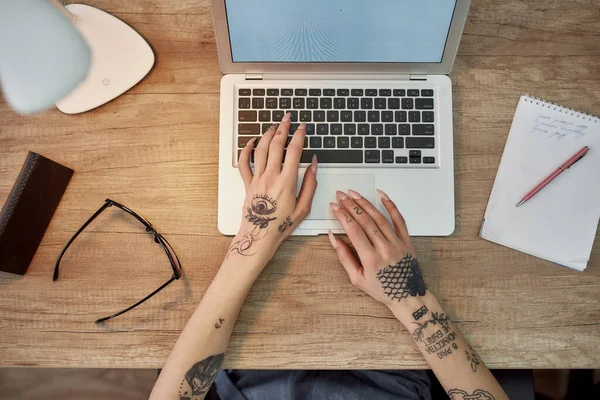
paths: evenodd
<path fill-rule="evenodd" d="M 396 265 L 389 265 L 377 273 L 384 293 L 392 300 L 402 300 L 408 296 L 425 296 L 427 286 L 419 267 L 419 261 L 410 253 Z"/>

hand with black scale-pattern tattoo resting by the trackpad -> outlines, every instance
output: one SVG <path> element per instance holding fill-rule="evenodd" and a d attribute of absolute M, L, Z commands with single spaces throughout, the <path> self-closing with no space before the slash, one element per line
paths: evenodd
<path fill-rule="evenodd" d="M 407 303 L 404 299 L 424 296 L 427 287 L 404 218 L 394 202 L 378 192 L 393 228 L 369 200 L 352 190 L 349 196 L 338 191 L 339 204 L 330 206 L 359 259 L 331 231 L 329 241 L 354 286 L 387 306 Z"/>

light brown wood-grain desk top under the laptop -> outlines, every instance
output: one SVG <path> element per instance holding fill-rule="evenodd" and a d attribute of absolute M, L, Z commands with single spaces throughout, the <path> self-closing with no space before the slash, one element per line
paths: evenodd
<path fill-rule="evenodd" d="M 1 202 L 27 150 L 76 171 L 27 275 L 0 273 L 0 363 L 158 368 L 229 243 L 217 231 L 221 73 L 211 11 L 208 0 L 86 3 L 137 29 L 156 65 L 127 94 L 82 115 L 25 118 L 0 105 Z M 430 288 L 491 368 L 600 366 L 598 240 L 578 273 L 478 238 L 519 95 L 600 111 L 599 21 L 597 0 L 472 4 L 452 73 L 457 228 L 415 245 Z M 75 242 L 52 282 L 61 248 L 106 197 L 152 221 L 187 276 L 96 326 L 170 276 L 159 246 L 114 211 Z M 327 238 L 316 237 L 290 240 L 264 271 L 225 366 L 427 364 L 387 309 L 351 287 Z"/>

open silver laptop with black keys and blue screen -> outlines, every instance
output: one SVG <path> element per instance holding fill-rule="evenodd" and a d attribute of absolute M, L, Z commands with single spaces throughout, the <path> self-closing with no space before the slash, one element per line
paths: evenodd
<path fill-rule="evenodd" d="M 454 231 L 452 69 L 470 0 L 212 0 L 221 80 L 218 226 L 235 235 L 241 148 L 286 112 L 318 188 L 294 235 L 343 232 L 329 209 L 392 198 L 416 236 Z M 300 184 L 299 182 L 299 184 Z"/>

